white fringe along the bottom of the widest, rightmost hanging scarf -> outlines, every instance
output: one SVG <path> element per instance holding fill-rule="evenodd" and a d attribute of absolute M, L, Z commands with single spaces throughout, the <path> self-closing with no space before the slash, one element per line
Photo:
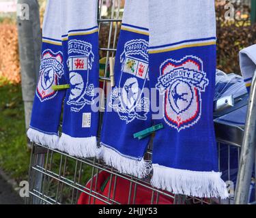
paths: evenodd
<path fill-rule="evenodd" d="M 227 185 L 221 179 L 221 172 L 177 170 L 158 164 L 153 164 L 153 170 L 151 183 L 158 189 L 197 198 L 229 197 Z"/>

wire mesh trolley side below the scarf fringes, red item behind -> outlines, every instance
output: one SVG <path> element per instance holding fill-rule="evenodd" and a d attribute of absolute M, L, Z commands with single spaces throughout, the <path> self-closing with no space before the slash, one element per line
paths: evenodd
<path fill-rule="evenodd" d="M 219 143 L 219 149 L 227 149 L 227 156 L 223 156 L 228 167 L 228 176 L 231 176 L 231 150 L 239 154 L 240 148 L 232 145 Z M 147 151 L 151 156 L 151 151 Z M 232 156 L 233 157 L 233 156 Z M 237 156 L 239 159 L 239 155 Z M 220 157 L 219 162 L 222 159 Z M 104 191 L 100 191 L 104 183 L 100 175 L 108 174 L 105 181 L 109 184 Z M 120 199 L 115 193 L 120 193 L 120 178 L 126 186 L 122 186 L 124 196 Z M 101 181 L 100 181 L 101 180 Z M 124 182 L 125 181 L 125 182 Z M 33 144 L 31 152 L 31 166 L 29 173 L 30 198 L 28 204 L 77 204 L 81 193 L 86 196 L 83 204 L 141 204 L 137 191 L 144 189 L 147 194 L 147 204 L 219 204 L 217 199 L 199 199 L 188 196 L 175 196 L 150 185 L 150 178 L 143 180 L 120 174 L 114 168 L 105 166 L 97 159 L 81 159 L 71 157 L 66 153 L 48 149 L 40 144 Z M 100 187 L 98 187 L 100 185 Z M 230 187 L 230 193 L 233 193 Z M 162 200 L 164 199 L 164 201 Z M 87 200 L 87 202 L 86 202 Z M 229 198 L 225 204 L 231 204 L 233 198 Z M 223 203 L 223 202 L 222 202 Z"/>

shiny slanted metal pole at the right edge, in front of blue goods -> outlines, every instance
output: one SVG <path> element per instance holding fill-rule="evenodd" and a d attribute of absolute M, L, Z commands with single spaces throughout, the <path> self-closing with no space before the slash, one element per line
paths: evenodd
<path fill-rule="evenodd" d="M 256 72 L 251 86 L 240 157 L 235 204 L 248 204 L 256 147 Z"/>

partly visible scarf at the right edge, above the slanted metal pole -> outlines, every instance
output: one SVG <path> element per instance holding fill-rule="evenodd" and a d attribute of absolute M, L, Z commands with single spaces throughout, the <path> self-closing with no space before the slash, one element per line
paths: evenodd
<path fill-rule="evenodd" d="M 246 83 L 248 91 L 250 91 L 253 76 L 256 73 L 256 45 L 244 48 L 240 51 L 239 56 L 244 82 Z"/>

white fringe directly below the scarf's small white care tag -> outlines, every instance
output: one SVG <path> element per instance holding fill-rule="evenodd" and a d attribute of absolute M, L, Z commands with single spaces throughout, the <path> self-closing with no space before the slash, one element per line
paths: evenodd
<path fill-rule="evenodd" d="M 66 134 L 61 134 L 58 149 L 74 157 L 97 157 L 99 152 L 96 137 L 73 138 Z"/>

